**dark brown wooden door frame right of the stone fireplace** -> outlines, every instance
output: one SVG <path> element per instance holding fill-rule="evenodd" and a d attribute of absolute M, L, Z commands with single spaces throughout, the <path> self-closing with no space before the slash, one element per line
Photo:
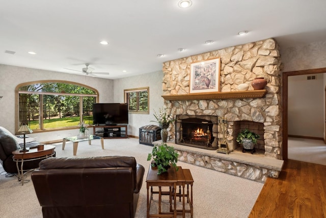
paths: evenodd
<path fill-rule="evenodd" d="M 326 72 L 326 68 L 307 69 L 298 71 L 283 72 L 282 74 L 282 159 L 288 159 L 288 77 L 297 75 L 322 74 Z M 324 136 L 325 137 L 325 136 Z"/>

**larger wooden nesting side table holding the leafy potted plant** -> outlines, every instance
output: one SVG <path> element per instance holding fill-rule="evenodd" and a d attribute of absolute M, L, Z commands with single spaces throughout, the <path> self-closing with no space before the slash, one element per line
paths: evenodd
<path fill-rule="evenodd" d="M 176 191 L 172 192 L 172 188 L 176 190 L 177 187 L 177 175 L 174 167 L 170 167 L 168 172 L 161 175 L 157 175 L 157 167 L 149 167 L 149 171 L 146 179 L 147 185 L 147 215 L 146 217 L 177 217 L 177 205 L 176 205 Z M 153 198 L 153 186 L 158 186 L 158 213 L 150 214 L 151 200 Z M 170 199 L 170 211 L 172 212 L 162 212 L 161 211 L 161 197 L 162 190 L 161 187 L 169 187 L 169 199 Z M 149 191 L 151 187 L 151 191 Z M 173 196 L 172 196 L 173 193 Z M 172 197 L 174 199 L 174 205 L 172 207 Z"/>

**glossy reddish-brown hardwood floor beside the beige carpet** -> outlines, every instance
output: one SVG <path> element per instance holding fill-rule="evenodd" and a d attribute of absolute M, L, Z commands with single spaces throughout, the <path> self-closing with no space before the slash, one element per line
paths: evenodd
<path fill-rule="evenodd" d="M 326 217 L 326 165 L 284 161 L 279 178 L 267 178 L 249 217 Z"/>

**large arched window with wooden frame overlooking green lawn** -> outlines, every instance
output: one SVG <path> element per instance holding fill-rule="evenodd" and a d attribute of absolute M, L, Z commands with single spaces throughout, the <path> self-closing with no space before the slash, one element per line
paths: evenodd
<path fill-rule="evenodd" d="M 34 81 L 16 87 L 16 129 L 25 123 L 34 131 L 72 129 L 93 124 L 98 91 L 68 81 Z"/>

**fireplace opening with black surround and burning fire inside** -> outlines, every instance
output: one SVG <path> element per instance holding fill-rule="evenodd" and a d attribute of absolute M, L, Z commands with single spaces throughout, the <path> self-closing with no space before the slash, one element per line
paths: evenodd
<path fill-rule="evenodd" d="M 205 115 L 177 115 L 175 143 L 184 146 L 216 150 L 218 117 Z"/>

